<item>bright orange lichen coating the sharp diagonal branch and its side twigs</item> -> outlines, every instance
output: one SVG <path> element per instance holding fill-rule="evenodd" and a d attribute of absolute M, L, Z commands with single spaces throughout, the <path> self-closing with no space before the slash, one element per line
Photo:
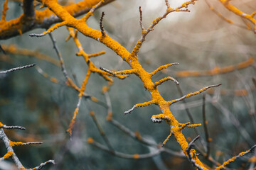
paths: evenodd
<path fill-rule="evenodd" d="M 159 115 L 153 115 L 152 116 L 152 120 L 165 120 L 166 123 L 168 123 L 171 126 L 171 133 L 174 135 L 174 137 L 176 138 L 176 141 L 178 142 L 178 144 L 181 146 L 181 149 L 183 150 L 183 153 L 186 154 L 186 156 L 188 156 L 186 149 L 188 148 L 188 142 L 186 141 L 186 138 L 184 137 L 182 130 L 185 127 L 188 128 L 193 128 L 196 127 L 200 124 L 194 124 L 194 125 L 189 125 L 189 123 L 178 123 L 178 120 L 176 120 L 176 118 L 174 117 L 174 115 L 171 113 L 169 105 L 171 103 L 174 103 L 172 101 L 165 101 L 164 98 L 159 94 L 158 89 L 154 86 L 154 83 L 151 81 L 151 77 L 156 74 L 157 72 L 161 71 L 162 69 L 166 69 L 167 67 L 171 66 L 172 64 L 166 64 L 164 66 L 159 67 L 159 69 L 156 69 L 154 72 L 146 72 L 146 70 L 142 67 L 142 65 L 139 63 L 138 57 L 137 57 L 137 53 L 139 52 L 139 48 L 142 46 L 142 41 L 144 40 L 144 38 L 142 37 L 142 40 L 138 40 L 137 41 L 137 45 L 134 47 L 134 49 L 132 50 L 132 52 L 128 52 L 122 45 L 119 44 L 119 42 L 113 40 L 112 38 L 110 38 L 108 35 L 102 36 L 102 31 L 100 30 L 95 30 L 90 28 L 89 26 L 87 26 L 87 23 L 85 21 L 87 21 L 87 19 L 91 16 L 91 12 L 93 12 L 95 10 L 95 8 L 92 8 L 92 10 L 90 11 L 90 13 L 87 13 L 87 15 L 84 18 L 81 19 L 75 19 L 72 15 L 70 15 L 70 13 L 68 13 L 68 11 L 65 10 L 65 8 L 63 8 L 62 6 L 60 6 L 58 4 L 58 2 L 56 0 L 42 0 L 43 4 L 45 4 L 46 6 L 48 6 L 48 8 L 51 8 L 51 10 L 53 11 L 53 13 L 55 13 L 55 15 L 57 15 L 63 22 L 67 22 L 67 26 L 73 27 L 75 29 L 77 29 L 78 31 L 80 31 L 80 33 L 82 33 L 83 35 L 93 38 L 99 42 L 102 42 L 104 45 L 106 45 L 107 47 L 109 47 L 110 49 L 112 49 L 114 52 L 117 53 L 117 55 L 119 55 L 120 57 L 122 57 L 122 59 L 127 62 L 129 64 L 129 66 L 131 67 L 131 69 L 128 71 L 119 71 L 119 72 L 105 72 L 103 70 L 97 71 L 98 73 L 102 74 L 102 77 L 104 77 L 105 79 L 107 79 L 108 81 L 110 81 L 110 78 L 107 76 L 117 76 L 116 73 L 119 74 L 136 74 L 137 77 L 139 77 L 139 79 L 141 79 L 142 83 L 144 84 L 144 88 L 150 92 L 151 94 L 151 101 L 147 101 L 144 103 L 138 103 L 135 104 L 134 107 L 127 111 L 127 113 L 130 113 L 134 108 L 138 108 L 138 107 L 144 107 L 144 106 L 149 106 L 151 104 L 156 104 L 157 106 L 159 106 L 159 108 L 161 109 L 161 114 Z M 186 4 L 184 4 L 183 6 L 181 6 L 180 8 L 183 7 L 187 7 L 188 4 L 193 4 L 194 1 L 188 1 L 186 2 Z M 168 13 L 165 14 L 165 16 Z M 165 17 L 164 16 L 164 17 Z M 163 18 L 164 18 L 163 17 Z M 159 23 L 159 21 L 161 21 L 161 17 L 156 18 L 153 22 L 152 22 L 152 26 L 149 27 L 146 30 L 146 33 L 149 33 L 149 31 L 153 30 L 153 27 Z M 146 34 L 145 34 L 146 35 Z M 145 36 L 143 35 L 143 36 Z M 73 39 L 75 39 L 75 35 L 73 36 Z M 83 55 L 83 50 L 82 50 L 82 46 L 78 45 L 78 42 L 75 42 L 78 46 L 79 55 L 82 55 L 85 58 L 85 61 L 89 61 L 85 56 L 85 54 Z M 91 63 L 91 62 L 90 62 Z M 91 69 L 90 68 L 90 64 L 88 64 L 88 72 Z M 96 72 L 97 68 L 93 68 L 92 70 L 90 70 L 90 72 Z M 112 74 L 114 73 L 114 74 Z M 87 79 L 87 77 L 85 77 L 85 79 Z M 87 80 L 83 81 L 83 84 L 86 84 Z M 186 95 L 184 98 L 196 95 L 201 93 L 202 91 L 213 87 L 213 86 L 208 86 L 207 88 L 203 88 L 200 91 L 196 91 L 194 93 L 188 94 Z M 84 91 L 84 89 L 81 87 L 80 89 L 80 94 L 81 92 Z M 181 100 L 181 99 L 180 99 Z M 175 100 L 176 102 L 176 100 Z M 75 110 L 74 116 L 78 113 L 76 112 L 77 109 Z M 73 117 L 74 118 L 74 117 Z M 93 140 L 91 138 L 89 138 L 87 140 L 87 142 L 92 143 Z M 193 160 L 195 161 L 195 164 L 198 164 L 198 166 L 204 167 L 203 164 L 200 162 L 200 160 L 198 159 L 198 157 L 196 156 L 196 151 L 195 149 L 191 149 L 190 151 L 191 155 L 193 156 Z M 139 154 L 134 154 L 134 158 L 139 158 Z"/>

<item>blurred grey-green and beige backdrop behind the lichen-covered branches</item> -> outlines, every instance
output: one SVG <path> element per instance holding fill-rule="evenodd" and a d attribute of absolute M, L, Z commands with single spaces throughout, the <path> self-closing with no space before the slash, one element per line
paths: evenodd
<path fill-rule="evenodd" d="M 171 0 L 170 4 L 171 7 L 176 7 L 182 2 Z M 220 2 L 210 1 L 210 3 L 226 18 L 243 23 L 241 18 L 230 13 Z M 234 0 L 232 3 L 247 13 L 255 11 L 256 1 Z M 3 4 L 4 1 L 0 1 L 1 9 Z M 23 11 L 19 4 L 18 1 L 9 1 L 6 20 L 21 15 Z M 100 13 L 105 11 L 103 24 L 107 34 L 131 51 L 141 36 L 139 6 L 142 6 L 144 27 L 149 26 L 154 18 L 166 10 L 164 1 L 119 0 L 95 11 L 88 25 L 100 30 Z M 147 71 L 153 71 L 162 64 L 180 63 L 164 70 L 161 74 L 156 74 L 153 77 L 154 81 L 166 75 L 176 77 L 178 71 L 208 70 L 238 64 L 249 57 L 255 58 L 256 35 L 252 31 L 226 23 L 210 11 L 203 0 L 196 1 L 194 6 L 188 8 L 190 13 L 171 13 L 161 21 L 146 37 L 146 42 L 139 52 L 139 60 Z M 58 60 L 48 35 L 43 38 L 28 36 L 30 33 L 42 33 L 43 31 L 43 29 L 32 30 L 21 36 L 1 41 L 1 45 L 15 45 L 19 49 L 35 50 Z M 82 57 L 75 55 L 78 50 L 73 40 L 65 42 L 68 30 L 65 27 L 58 28 L 53 31 L 53 36 L 63 55 L 68 74 L 81 86 L 87 72 L 87 64 Z M 89 54 L 106 51 L 105 55 L 92 58 L 92 62 L 97 67 L 116 70 L 129 68 L 112 50 L 99 42 L 86 38 L 80 33 L 78 33 L 78 38 L 85 52 Z M 102 140 L 88 114 L 89 111 L 95 111 L 97 120 L 115 150 L 127 154 L 145 154 L 152 151 L 150 147 L 142 145 L 107 122 L 105 104 L 100 105 L 89 100 L 82 101 L 74 134 L 70 140 L 65 130 L 68 128 L 78 102 L 78 93 L 65 85 L 65 78 L 60 67 L 44 60 L 38 60 L 36 57 L 11 55 L 8 52 L 6 55 L 1 53 L 0 60 L 1 70 L 36 63 L 50 77 L 58 79 L 58 84 L 53 83 L 39 74 L 34 67 L 0 78 L 1 122 L 26 128 L 26 131 L 6 130 L 6 134 L 14 141 L 43 142 L 40 146 L 15 148 L 24 166 L 36 166 L 47 159 L 55 159 L 58 164 L 45 169 L 193 169 L 188 159 L 174 157 L 171 154 L 163 153 L 148 159 L 122 159 L 87 144 L 87 138 L 92 137 L 95 141 L 105 145 L 105 141 Z M 250 91 L 250 86 L 254 86 L 252 77 L 255 77 L 255 64 L 227 74 L 177 78 L 183 94 L 197 91 L 210 84 L 223 84 L 215 89 L 214 94 L 206 94 L 206 118 L 212 139 L 210 155 L 220 163 L 255 145 L 255 91 Z M 106 85 L 107 82 L 102 77 L 92 74 L 85 92 L 97 97 L 102 103 L 106 103 L 105 96 L 101 93 L 102 86 Z M 230 93 L 220 95 L 219 89 L 228 90 Z M 232 91 L 236 89 L 247 89 L 248 94 L 235 96 Z M 176 84 L 171 81 L 159 86 L 159 91 L 166 100 L 181 97 Z M 156 106 L 138 108 L 126 116 L 122 114 L 134 104 L 149 101 L 151 98 L 148 92 L 144 91 L 142 82 L 134 75 L 124 80 L 114 79 L 109 95 L 113 118 L 119 123 L 132 131 L 138 131 L 142 137 L 156 143 L 163 142 L 169 135 L 169 127 L 166 123 L 154 124 L 150 120 L 152 114 L 160 113 Z M 195 123 L 203 123 L 202 96 L 200 94 L 187 99 L 186 105 L 180 102 L 171 106 L 171 111 L 179 122 L 189 121 L 185 111 L 185 108 L 188 108 Z M 245 128 L 250 135 L 250 140 L 242 137 L 240 131 L 233 125 L 233 119 L 230 118 L 229 113 Z M 205 138 L 203 127 L 197 129 L 201 137 Z M 191 139 L 196 137 L 193 129 L 186 129 L 183 132 Z M 165 147 L 175 151 L 180 150 L 172 137 Z M 5 152 L 6 149 L 1 145 L 1 155 Z M 203 156 L 199 156 L 199 159 L 203 160 Z M 244 166 L 247 169 L 249 165 L 242 165 L 244 162 L 247 162 L 247 157 L 230 164 L 230 168 L 242 169 L 241 167 Z"/>

